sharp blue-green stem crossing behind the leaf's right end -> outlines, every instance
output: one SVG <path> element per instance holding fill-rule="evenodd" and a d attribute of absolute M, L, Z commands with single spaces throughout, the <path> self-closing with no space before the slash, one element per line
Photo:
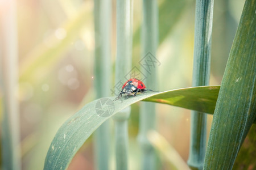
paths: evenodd
<path fill-rule="evenodd" d="M 210 77 L 210 46 L 212 40 L 213 0 L 196 0 L 195 44 L 192 86 L 207 86 Z M 203 169 L 207 114 L 192 111 L 191 140 L 188 165 Z"/>

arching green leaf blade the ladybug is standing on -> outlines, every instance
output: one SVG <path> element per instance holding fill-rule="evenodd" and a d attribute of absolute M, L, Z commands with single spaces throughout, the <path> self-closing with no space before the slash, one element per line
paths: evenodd
<path fill-rule="evenodd" d="M 70 117 L 57 131 L 49 147 L 44 169 L 66 169 L 73 156 L 93 131 L 115 113 L 133 103 L 141 100 L 152 101 L 212 114 L 219 89 L 220 86 L 190 87 L 165 92 L 150 92 L 127 99 L 123 96 L 116 101 L 113 101 L 115 97 L 94 100 Z M 109 111 L 113 112 L 108 114 L 108 117 L 103 117 L 104 114 L 98 112 L 100 102 L 104 100 L 110 105 Z"/>

